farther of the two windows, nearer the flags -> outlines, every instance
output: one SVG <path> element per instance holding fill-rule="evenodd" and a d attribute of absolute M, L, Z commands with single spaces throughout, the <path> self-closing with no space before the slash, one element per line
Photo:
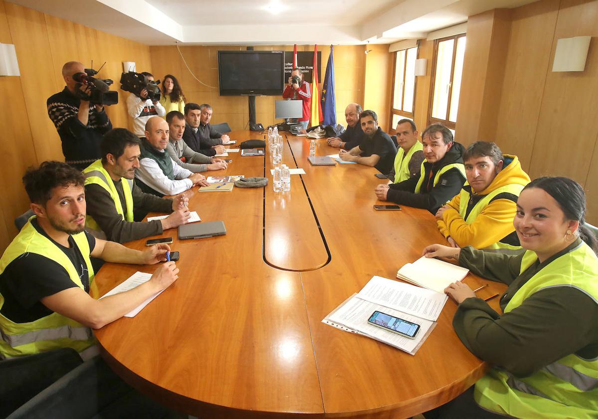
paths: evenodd
<path fill-rule="evenodd" d="M 396 51 L 395 78 L 392 81 L 392 107 L 390 110 L 390 130 L 403 118 L 413 119 L 415 101 L 415 60 L 417 47 Z"/>

